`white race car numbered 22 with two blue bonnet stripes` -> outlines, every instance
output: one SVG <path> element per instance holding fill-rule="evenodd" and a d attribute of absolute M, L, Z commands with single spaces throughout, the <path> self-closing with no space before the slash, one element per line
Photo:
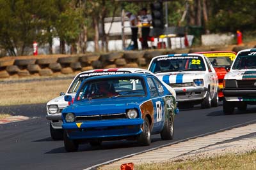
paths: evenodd
<path fill-rule="evenodd" d="M 218 106 L 218 76 L 204 55 L 160 55 L 151 60 L 148 70 L 175 90 L 179 106 Z"/>

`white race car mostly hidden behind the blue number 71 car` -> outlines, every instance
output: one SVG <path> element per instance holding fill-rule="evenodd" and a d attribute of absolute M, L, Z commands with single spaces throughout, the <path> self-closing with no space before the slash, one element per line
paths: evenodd
<path fill-rule="evenodd" d="M 147 69 L 140 68 L 112 68 L 112 69 L 94 69 L 90 71 L 84 71 L 76 75 L 72 83 L 69 85 L 67 92 L 61 92 L 59 97 L 56 97 L 47 103 L 47 120 L 51 120 L 50 124 L 50 132 L 51 137 L 54 140 L 63 139 L 63 130 L 62 130 L 62 120 L 61 120 L 61 111 L 68 106 L 68 102 L 64 100 L 65 95 L 76 96 L 76 92 L 83 81 L 86 78 L 92 76 L 102 76 L 109 74 L 124 74 L 124 73 L 148 73 L 153 74 Z M 163 82 L 163 81 L 162 81 Z M 163 82 L 164 83 L 164 82 Z M 164 83 L 166 88 L 170 91 L 170 93 L 176 98 L 175 91 Z"/>

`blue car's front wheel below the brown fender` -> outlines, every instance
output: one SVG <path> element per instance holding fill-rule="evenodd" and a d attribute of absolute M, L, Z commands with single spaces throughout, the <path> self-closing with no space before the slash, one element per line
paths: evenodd
<path fill-rule="evenodd" d="M 148 146 L 151 143 L 151 131 L 148 118 L 146 117 L 143 124 L 143 132 L 138 137 L 138 143 L 141 146 Z"/>

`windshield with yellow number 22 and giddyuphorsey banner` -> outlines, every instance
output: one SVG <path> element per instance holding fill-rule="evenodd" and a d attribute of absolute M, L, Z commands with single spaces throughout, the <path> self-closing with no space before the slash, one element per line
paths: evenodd
<path fill-rule="evenodd" d="M 164 73 L 173 71 L 205 71 L 204 59 L 201 56 L 161 57 L 152 61 L 150 71 Z"/>

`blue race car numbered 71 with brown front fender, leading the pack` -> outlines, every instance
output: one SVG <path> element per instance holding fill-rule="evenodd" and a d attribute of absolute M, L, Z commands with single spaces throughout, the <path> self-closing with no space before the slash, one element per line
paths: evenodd
<path fill-rule="evenodd" d="M 72 101 L 72 96 L 65 96 Z M 74 103 L 62 111 L 64 145 L 75 152 L 80 143 L 98 146 L 102 141 L 134 139 L 151 143 L 151 134 L 173 139 L 178 113 L 175 97 L 152 74 L 116 74 L 87 78 Z"/>

